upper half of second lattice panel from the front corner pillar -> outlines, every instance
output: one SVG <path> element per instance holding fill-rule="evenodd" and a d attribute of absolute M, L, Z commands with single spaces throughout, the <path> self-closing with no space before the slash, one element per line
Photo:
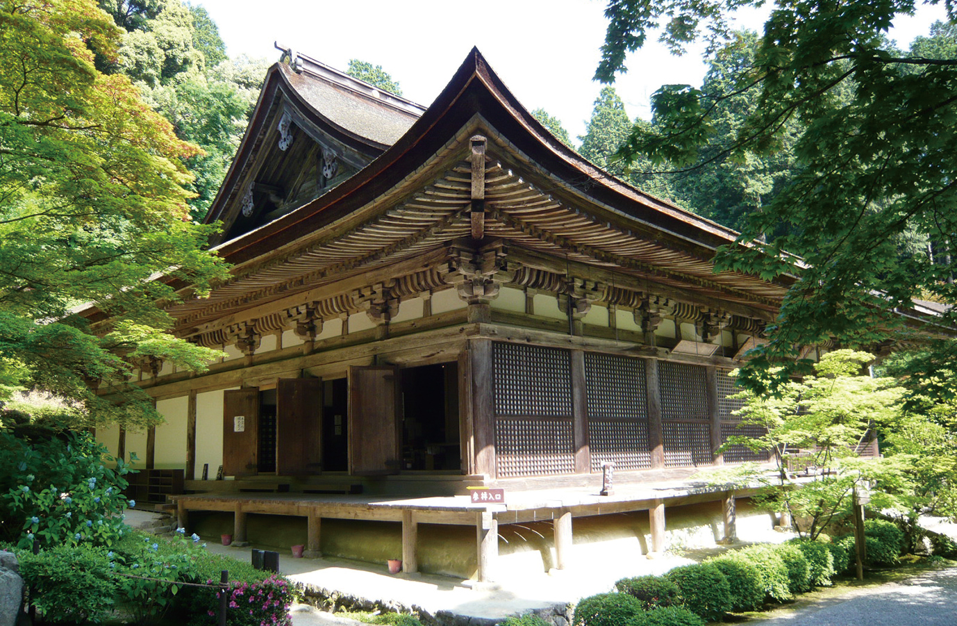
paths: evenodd
<path fill-rule="evenodd" d="M 648 419 L 648 391 L 642 359 L 585 353 L 589 419 Z"/>

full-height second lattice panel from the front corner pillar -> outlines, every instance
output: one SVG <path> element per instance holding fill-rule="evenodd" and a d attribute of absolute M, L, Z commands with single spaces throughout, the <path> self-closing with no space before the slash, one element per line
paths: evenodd
<path fill-rule="evenodd" d="M 644 360 L 586 353 L 585 389 L 591 471 L 608 461 L 616 469 L 650 468 Z"/>

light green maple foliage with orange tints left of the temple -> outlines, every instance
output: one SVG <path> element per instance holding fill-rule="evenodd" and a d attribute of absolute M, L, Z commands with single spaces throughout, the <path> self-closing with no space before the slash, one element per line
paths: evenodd
<path fill-rule="evenodd" d="M 223 274 L 203 250 L 211 227 L 189 221 L 181 159 L 198 150 L 97 69 L 120 36 L 92 0 L 0 1 L 0 389 L 96 404 L 86 383 L 122 379 L 123 354 L 213 357 L 161 332 L 157 305 L 178 298 L 175 280 L 202 291 Z M 115 322 L 91 328 L 81 302 Z"/>

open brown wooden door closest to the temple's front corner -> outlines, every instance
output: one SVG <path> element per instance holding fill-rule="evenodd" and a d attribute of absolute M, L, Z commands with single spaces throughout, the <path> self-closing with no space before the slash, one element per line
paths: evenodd
<path fill-rule="evenodd" d="M 349 368 L 349 474 L 398 474 L 398 368 Z"/>

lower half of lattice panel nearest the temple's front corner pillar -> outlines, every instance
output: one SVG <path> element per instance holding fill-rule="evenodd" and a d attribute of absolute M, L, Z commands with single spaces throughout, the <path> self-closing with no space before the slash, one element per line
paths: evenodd
<path fill-rule="evenodd" d="M 575 471 L 571 420 L 497 419 L 495 448 L 500 478 Z"/>

